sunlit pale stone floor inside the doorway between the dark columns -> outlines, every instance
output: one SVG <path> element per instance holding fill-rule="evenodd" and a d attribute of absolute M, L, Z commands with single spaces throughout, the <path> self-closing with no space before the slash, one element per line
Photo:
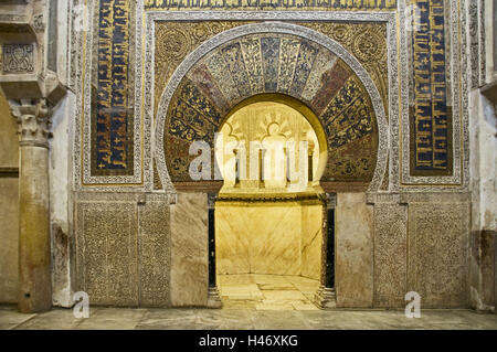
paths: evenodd
<path fill-rule="evenodd" d="M 318 310 L 319 281 L 302 276 L 218 275 L 218 286 L 225 309 Z"/>

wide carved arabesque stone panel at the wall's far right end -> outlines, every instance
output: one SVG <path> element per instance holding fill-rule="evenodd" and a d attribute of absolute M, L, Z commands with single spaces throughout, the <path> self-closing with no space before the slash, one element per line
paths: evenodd
<path fill-rule="evenodd" d="M 408 290 L 424 308 L 467 307 L 469 203 L 410 203 Z"/>

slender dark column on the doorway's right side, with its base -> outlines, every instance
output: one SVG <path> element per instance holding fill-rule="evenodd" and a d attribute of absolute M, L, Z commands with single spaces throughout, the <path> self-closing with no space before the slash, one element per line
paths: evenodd
<path fill-rule="evenodd" d="M 322 249 L 320 286 L 315 296 L 321 309 L 337 307 L 335 291 L 335 206 L 336 195 L 326 194 L 322 200 Z"/>

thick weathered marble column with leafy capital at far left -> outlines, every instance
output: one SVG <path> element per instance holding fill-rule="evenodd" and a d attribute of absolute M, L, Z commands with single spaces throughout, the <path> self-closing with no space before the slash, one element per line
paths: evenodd
<path fill-rule="evenodd" d="M 18 309 L 52 307 L 50 270 L 49 138 L 45 99 L 10 100 L 20 135 Z"/>

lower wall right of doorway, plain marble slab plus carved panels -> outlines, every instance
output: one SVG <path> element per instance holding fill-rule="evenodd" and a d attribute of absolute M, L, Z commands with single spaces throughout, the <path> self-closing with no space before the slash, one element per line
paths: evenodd
<path fill-rule="evenodd" d="M 372 204 L 372 205 L 370 205 Z M 338 307 L 468 307 L 469 194 L 337 194 Z"/>

